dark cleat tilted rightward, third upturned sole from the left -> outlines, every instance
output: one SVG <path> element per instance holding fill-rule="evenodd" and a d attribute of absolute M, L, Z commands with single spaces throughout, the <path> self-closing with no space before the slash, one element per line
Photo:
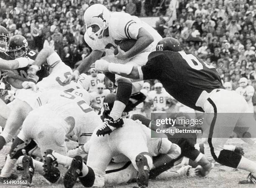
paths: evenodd
<path fill-rule="evenodd" d="M 77 155 L 72 160 L 67 173 L 64 176 L 64 186 L 65 188 L 72 188 L 77 181 L 79 175 L 83 168 L 83 159 L 81 156 Z"/>

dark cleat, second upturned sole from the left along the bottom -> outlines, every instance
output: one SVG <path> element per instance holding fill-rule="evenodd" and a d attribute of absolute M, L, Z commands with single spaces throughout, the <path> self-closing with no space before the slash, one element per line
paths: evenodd
<path fill-rule="evenodd" d="M 56 168 L 58 166 L 58 163 L 56 161 L 56 158 L 54 155 L 52 155 L 52 150 L 46 150 L 44 152 L 44 178 L 48 180 L 51 183 L 55 183 L 59 177 L 60 172 L 59 169 Z"/>

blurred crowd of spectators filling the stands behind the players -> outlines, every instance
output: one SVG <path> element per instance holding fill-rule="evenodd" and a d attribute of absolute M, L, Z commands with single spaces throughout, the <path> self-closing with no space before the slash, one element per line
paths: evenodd
<path fill-rule="evenodd" d="M 74 69 L 91 51 L 83 39 L 83 14 L 95 3 L 112 12 L 157 18 L 161 36 L 177 38 L 184 51 L 215 66 L 227 89 L 245 98 L 253 91 L 255 107 L 256 0 L 1 0 L 0 25 L 11 36 L 25 36 L 31 49 L 54 48 Z M 149 90 L 156 82 L 148 81 Z"/>

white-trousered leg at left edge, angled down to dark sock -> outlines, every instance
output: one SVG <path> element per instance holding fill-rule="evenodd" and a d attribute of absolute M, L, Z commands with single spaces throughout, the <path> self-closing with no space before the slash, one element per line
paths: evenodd
<path fill-rule="evenodd" d="M 32 108 L 26 102 L 15 99 L 15 106 L 10 112 L 3 132 L 0 134 L 0 140 L 2 140 L 0 142 L 0 150 L 3 145 L 13 140 L 13 137 L 15 137 L 23 121 L 31 111 Z M 1 138 L 4 138 L 4 140 Z"/>

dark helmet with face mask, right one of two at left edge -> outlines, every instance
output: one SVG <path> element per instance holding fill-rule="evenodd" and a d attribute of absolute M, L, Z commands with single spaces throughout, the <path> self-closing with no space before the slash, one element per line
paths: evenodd
<path fill-rule="evenodd" d="M 28 53 L 28 41 L 21 35 L 10 38 L 8 54 L 11 58 L 25 57 Z"/>

